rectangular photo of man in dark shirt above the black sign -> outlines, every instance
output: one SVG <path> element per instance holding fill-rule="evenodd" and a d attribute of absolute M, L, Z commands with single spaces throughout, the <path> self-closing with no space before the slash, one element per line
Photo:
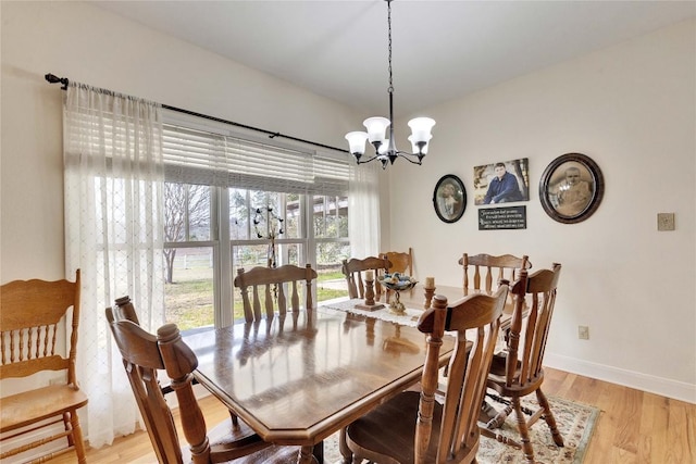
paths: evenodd
<path fill-rule="evenodd" d="M 498 161 L 474 167 L 474 204 L 530 201 L 530 160 Z"/>

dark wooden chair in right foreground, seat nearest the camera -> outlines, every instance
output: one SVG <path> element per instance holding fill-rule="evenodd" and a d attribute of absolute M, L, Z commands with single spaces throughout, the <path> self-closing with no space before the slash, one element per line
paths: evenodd
<path fill-rule="evenodd" d="M 472 294 L 453 306 L 443 296 L 433 299 L 418 322 L 419 330 L 427 334 L 421 391 L 403 391 L 346 428 L 345 446 L 353 463 L 362 459 L 381 464 L 476 462 L 476 419 L 507 294 L 504 281 L 493 296 Z M 435 393 L 445 330 L 453 331 L 456 346 L 439 402 Z M 475 334 L 471 339 L 468 330 Z"/>

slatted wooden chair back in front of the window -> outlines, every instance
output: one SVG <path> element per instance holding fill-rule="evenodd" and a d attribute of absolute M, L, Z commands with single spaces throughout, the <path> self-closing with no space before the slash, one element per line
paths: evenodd
<path fill-rule="evenodd" d="M 276 306 L 279 315 L 287 312 L 287 293 L 289 292 L 290 308 L 294 312 L 300 309 L 300 289 L 304 289 L 304 308 L 314 309 L 312 302 L 312 281 L 316 279 L 316 271 L 310 264 L 298 267 L 285 264 L 281 267 L 253 267 L 250 271 L 237 269 L 234 286 L 241 292 L 244 317 L 246 322 L 260 321 L 261 309 L 265 316 L 273 318 Z M 251 300 L 249 299 L 251 288 Z M 261 303 L 263 300 L 263 304 Z"/>

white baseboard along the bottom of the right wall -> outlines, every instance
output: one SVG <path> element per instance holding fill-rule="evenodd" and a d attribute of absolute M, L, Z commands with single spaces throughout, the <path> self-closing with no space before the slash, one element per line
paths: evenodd
<path fill-rule="evenodd" d="M 546 353 L 544 365 L 696 404 L 696 385 Z"/>

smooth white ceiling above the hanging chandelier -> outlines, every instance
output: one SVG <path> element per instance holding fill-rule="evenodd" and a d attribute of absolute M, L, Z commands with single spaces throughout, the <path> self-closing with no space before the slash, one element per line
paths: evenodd
<path fill-rule="evenodd" d="M 383 0 L 90 3 L 365 116 L 388 116 Z M 693 16 L 693 0 L 394 1 L 395 116 Z"/>

